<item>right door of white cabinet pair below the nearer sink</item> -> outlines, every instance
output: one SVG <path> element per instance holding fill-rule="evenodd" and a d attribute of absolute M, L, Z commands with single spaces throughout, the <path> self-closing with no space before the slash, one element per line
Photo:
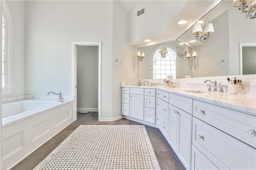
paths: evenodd
<path fill-rule="evenodd" d="M 192 115 L 179 111 L 180 130 L 178 134 L 179 147 L 178 156 L 186 169 L 190 169 L 190 151 L 191 151 L 191 134 L 192 134 Z"/>

